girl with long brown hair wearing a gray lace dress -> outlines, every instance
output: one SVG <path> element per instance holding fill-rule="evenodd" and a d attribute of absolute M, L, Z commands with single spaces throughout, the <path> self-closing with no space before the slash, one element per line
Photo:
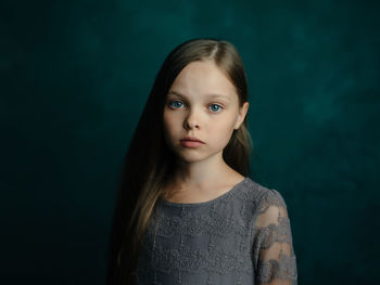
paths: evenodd
<path fill-rule="evenodd" d="M 249 178 L 245 72 L 228 41 L 163 63 L 122 170 L 107 284 L 296 284 L 287 205 Z"/>

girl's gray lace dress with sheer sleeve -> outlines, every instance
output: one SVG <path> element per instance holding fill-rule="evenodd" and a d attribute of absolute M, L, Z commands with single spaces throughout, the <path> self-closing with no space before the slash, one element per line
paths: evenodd
<path fill-rule="evenodd" d="M 159 198 L 137 284 L 296 284 L 287 205 L 251 178 L 204 203 Z"/>

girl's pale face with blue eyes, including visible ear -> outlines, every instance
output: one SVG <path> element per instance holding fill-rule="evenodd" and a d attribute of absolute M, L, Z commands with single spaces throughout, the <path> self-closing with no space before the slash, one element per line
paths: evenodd
<path fill-rule="evenodd" d="M 188 64 L 174 80 L 164 107 L 164 137 L 168 146 L 186 161 L 220 154 L 233 129 L 244 120 L 249 103 L 239 98 L 228 77 L 213 61 Z M 204 143 L 182 142 L 194 137 Z"/>

